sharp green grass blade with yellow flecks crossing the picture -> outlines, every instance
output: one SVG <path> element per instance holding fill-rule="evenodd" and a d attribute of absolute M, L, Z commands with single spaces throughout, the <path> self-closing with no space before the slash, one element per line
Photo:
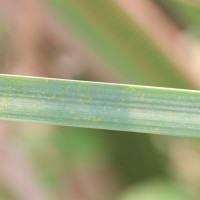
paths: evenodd
<path fill-rule="evenodd" d="M 200 92 L 0 75 L 0 118 L 200 136 Z"/>

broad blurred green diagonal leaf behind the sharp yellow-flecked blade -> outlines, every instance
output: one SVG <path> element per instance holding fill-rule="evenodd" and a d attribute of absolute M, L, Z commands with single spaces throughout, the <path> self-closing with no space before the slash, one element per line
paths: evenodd
<path fill-rule="evenodd" d="M 128 83 L 193 88 L 113 1 L 51 0 L 53 9 Z"/>

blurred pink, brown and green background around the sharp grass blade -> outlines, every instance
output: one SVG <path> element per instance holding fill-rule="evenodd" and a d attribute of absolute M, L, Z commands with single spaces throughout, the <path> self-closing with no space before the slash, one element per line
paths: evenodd
<path fill-rule="evenodd" d="M 0 73 L 200 89 L 199 0 L 0 0 Z M 198 200 L 198 139 L 0 122 L 0 200 Z"/>

